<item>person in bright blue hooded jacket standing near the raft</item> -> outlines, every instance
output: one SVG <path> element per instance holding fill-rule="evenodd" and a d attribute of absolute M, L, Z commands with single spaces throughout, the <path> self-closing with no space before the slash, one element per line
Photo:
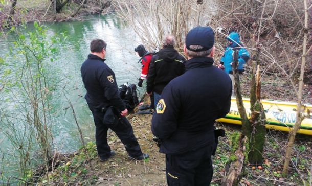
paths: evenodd
<path fill-rule="evenodd" d="M 237 32 L 231 32 L 229 36 L 227 36 L 227 39 L 229 41 L 229 45 L 226 47 L 226 50 L 224 52 L 224 55 L 221 57 L 221 61 L 219 64 L 219 68 L 225 69 L 225 72 L 229 74 L 232 83 L 233 83 L 233 91 L 232 94 L 234 94 L 234 77 L 233 77 L 233 71 L 232 71 L 232 63 L 234 60 L 234 51 L 237 50 L 238 52 L 238 64 L 237 64 L 237 70 L 239 74 L 242 74 L 244 71 L 244 64 L 249 60 L 250 55 L 248 51 L 243 47 L 242 43 L 239 40 L 239 34 Z"/>

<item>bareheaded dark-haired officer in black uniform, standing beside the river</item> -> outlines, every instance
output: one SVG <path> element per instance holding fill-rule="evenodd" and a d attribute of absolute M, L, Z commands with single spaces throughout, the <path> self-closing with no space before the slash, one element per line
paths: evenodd
<path fill-rule="evenodd" d="M 112 129 L 124 144 L 129 157 L 143 160 L 139 143 L 125 115 L 127 109 L 121 100 L 115 74 L 105 61 L 106 43 L 94 39 L 90 43 L 91 53 L 81 66 L 81 76 L 86 89 L 85 99 L 93 114 L 96 126 L 95 139 L 101 161 L 107 160 L 115 152 L 107 144 L 107 130 Z"/>

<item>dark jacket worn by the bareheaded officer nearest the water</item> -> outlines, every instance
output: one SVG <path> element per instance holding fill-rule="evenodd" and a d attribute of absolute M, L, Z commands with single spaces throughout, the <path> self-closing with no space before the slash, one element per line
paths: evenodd
<path fill-rule="evenodd" d="M 104 61 L 105 59 L 89 54 L 88 59 L 82 63 L 80 71 L 86 89 L 84 98 L 93 108 L 114 106 L 122 111 L 126 106 L 119 96 L 115 74 Z"/>

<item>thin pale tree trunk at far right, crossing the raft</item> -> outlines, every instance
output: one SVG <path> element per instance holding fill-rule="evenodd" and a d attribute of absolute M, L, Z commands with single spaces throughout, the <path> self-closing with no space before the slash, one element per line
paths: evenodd
<path fill-rule="evenodd" d="M 303 120 L 302 116 L 302 89 L 303 89 L 303 77 L 304 77 L 304 68 L 305 68 L 305 59 L 306 59 L 306 45 L 307 45 L 307 38 L 308 38 L 308 9 L 307 9 L 307 0 L 303 1 L 304 3 L 304 37 L 303 37 L 303 50 L 302 50 L 302 58 L 301 58 L 301 69 L 300 69 L 300 77 L 299 77 L 299 90 L 298 90 L 298 101 L 297 101 L 297 113 L 296 113 L 296 123 L 294 128 L 289 131 L 289 141 L 287 144 L 286 155 L 285 155 L 285 162 L 283 167 L 283 175 L 287 175 L 289 161 L 292 155 L 292 149 L 294 146 L 295 137 L 297 131 L 300 128 L 301 122 Z"/>

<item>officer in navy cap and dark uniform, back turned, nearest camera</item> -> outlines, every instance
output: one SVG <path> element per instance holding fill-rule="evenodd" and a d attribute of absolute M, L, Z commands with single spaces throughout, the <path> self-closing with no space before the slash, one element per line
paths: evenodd
<path fill-rule="evenodd" d="M 214 33 L 195 27 L 186 36 L 185 74 L 163 90 L 152 117 L 152 132 L 166 154 L 168 185 L 209 185 L 216 148 L 214 122 L 230 110 L 232 82 L 213 66 Z"/>

